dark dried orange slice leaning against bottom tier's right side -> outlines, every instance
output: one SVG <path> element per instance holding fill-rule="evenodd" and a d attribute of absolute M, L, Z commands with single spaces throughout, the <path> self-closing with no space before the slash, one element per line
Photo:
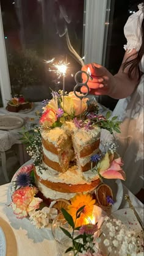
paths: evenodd
<path fill-rule="evenodd" d="M 95 194 L 99 207 L 103 208 L 104 210 L 111 207 L 111 204 L 107 202 L 107 196 L 113 199 L 113 194 L 112 189 L 108 185 L 104 183 L 99 185 L 96 188 Z"/>

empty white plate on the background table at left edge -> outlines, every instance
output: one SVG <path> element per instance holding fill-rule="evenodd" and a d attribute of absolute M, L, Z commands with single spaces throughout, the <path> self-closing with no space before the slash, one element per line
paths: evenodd
<path fill-rule="evenodd" d="M 16 115 L 2 115 L 0 117 L 0 130 L 12 130 L 23 126 L 24 120 Z"/>

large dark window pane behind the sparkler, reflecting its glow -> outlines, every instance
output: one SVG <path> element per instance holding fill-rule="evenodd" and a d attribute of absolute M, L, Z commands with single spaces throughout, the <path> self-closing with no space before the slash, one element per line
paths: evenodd
<path fill-rule="evenodd" d="M 12 93 L 27 100 L 50 97 L 49 87 L 62 89 L 62 79 L 49 72 L 44 60 L 70 62 L 67 90 L 75 86 L 74 76 L 81 69 L 70 52 L 65 33 L 82 56 L 84 0 L 1 0 L 2 23 Z"/>

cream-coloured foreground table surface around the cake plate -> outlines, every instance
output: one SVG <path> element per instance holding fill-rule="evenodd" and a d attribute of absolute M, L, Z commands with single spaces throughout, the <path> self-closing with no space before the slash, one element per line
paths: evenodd
<path fill-rule="evenodd" d="M 36 229 L 28 219 L 16 219 L 15 214 L 12 213 L 12 208 L 9 207 L 9 189 L 10 183 L 0 186 L 0 217 L 10 224 L 15 234 L 18 255 L 12 256 L 58 256 L 51 229 Z M 123 186 L 123 190 L 124 194 L 129 194 L 135 207 L 143 207 L 143 203 L 125 186 Z M 124 199 L 121 202 L 121 208 L 128 208 L 128 203 Z"/>

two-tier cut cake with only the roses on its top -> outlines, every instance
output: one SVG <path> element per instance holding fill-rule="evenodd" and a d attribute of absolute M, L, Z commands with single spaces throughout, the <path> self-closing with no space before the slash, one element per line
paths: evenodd
<path fill-rule="evenodd" d="M 65 96 L 64 111 L 58 106 L 59 100 L 63 106 L 62 97 L 55 93 L 41 115 L 43 170 L 40 170 L 41 166 L 34 167 L 35 183 L 46 198 L 69 200 L 78 192 L 93 191 L 101 183 L 98 175 L 90 171 L 90 158 L 99 153 L 101 128 L 97 125 L 88 126 L 88 119 L 84 116 L 88 110 L 88 98 L 82 100 L 84 115 L 81 120 L 76 117 L 80 114 L 80 104 L 78 108 L 77 104 L 73 104 L 80 100 L 73 92 Z M 54 109 L 61 111 L 59 117 Z M 49 123 L 52 115 L 54 123 L 57 122 L 56 127 L 52 127 L 54 123 Z"/>

